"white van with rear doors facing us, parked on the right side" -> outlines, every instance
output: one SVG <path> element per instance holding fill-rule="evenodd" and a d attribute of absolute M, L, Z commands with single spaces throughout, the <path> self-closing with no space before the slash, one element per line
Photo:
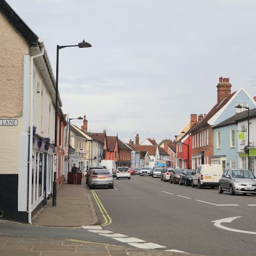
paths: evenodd
<path fill-rule="evenodd" d="M 218 187 L 219 179 L 222 176 L 222 166 L 219 164 L 201 164 L 196 168 L 196 172 L 192 178 L 191 186 L 194 188 L 202 187 Z"/>

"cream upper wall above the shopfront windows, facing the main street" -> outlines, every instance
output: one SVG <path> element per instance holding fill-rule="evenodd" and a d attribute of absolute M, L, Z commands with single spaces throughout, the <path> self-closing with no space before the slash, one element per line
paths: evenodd
<path fill-rule="evenodd" d="M 34 66 L 34 125 L 36 133 L 54 143 L 55 110 L 49 92 Z"/>

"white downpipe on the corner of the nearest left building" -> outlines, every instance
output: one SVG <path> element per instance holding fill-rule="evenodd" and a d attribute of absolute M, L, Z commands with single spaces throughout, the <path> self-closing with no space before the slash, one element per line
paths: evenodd
<path fill-rule="evenodd" d="M 32 163 L 33 163 L 33 124 L 34 124 L 34 59 L 44 55 L 44 47 L 42 52 L 30 57 L 30 125 L 29 125 L 29 168 L 28 168 L 28 223 L 31 222 L 31 206 L 32 206 Z"/>

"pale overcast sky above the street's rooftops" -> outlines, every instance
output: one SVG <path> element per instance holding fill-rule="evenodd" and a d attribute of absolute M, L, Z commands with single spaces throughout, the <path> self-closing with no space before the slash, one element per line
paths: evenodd
<path fill-rule="evenodd" d="M 174 139 L 217 103 L 219 77 L 256 95 L 255 0 L 6 0 L 59 52 L 63 113 L 124 142 Z M 72 121 L 81 126 L 81 121 Z"/>

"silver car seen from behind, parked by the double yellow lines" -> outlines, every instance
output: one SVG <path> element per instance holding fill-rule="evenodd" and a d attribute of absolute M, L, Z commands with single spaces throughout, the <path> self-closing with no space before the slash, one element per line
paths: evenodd
<path fill-rule="evenodd" d="M 108 169 L 93 169 L 88 181 L 90 189 L 94 187 L 114 188 L 114 179 Z"/>

